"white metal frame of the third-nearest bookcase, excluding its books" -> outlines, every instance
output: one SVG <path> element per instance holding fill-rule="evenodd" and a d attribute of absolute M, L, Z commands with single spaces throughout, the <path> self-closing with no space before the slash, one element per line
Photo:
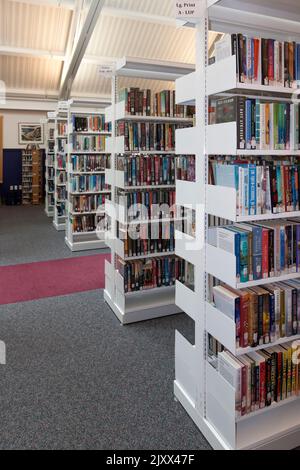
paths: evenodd
<path fill-rule="evenodd" d="M 76 110 L 72 109 L 72 103 L 70 102 L 69 111 L 68 111 L 68 159 L 67 159 L 67 181 L 68 181 L 68 200 L 66 203 L 66 237 L 65 242 L 67 246 L 72 251 L 85 251 L 85 250 L 95 250 L 105 248 L 105 234 L 104 234 L 104 225 L 103 227 L 101 224 L 98 224 L 99 217 L 103 218 L 105 214 L 105 207 L 97 207 L 95 210 L 90 212 L 76 212 L 74 210 L 74 198 L 76 196 L 97 196 L 97 195 L 104 195 L 107 196 L 107 199 L 110 198 L 110 190 L 105 191 L 98 191 L 98 192 L 80 192 L 75 193 L 72 189 L 72 178 L 80 177 L 81 175 L 84 176 L 93 176 L 93 175 L 105 175 L 105 170 L 107 167 L 107 158 L 105 162 L 105 166 L 101 168 L 101 170 L 97 171 L 76 171 L 73 169 L 72 166 L 72 156 L 88 156 L 94 155 L 99 156 L 102 155 L 103 157 L 108 157 L 110 153 L 107 151 L 107 139 L 111 136 L 110 132 L 106 131 L 80 131 L 77 132 L 73 126 L 73 117 L 90 117 L 90 116 L 100 116 L 104 115 L 103 111 L 98 110 L 97 112 L 90 110 L 84 112 L 77 112 Z M 102 136 L 106 139 L 105 142 L 105 150 L 103 151 L 96 151 L 96 150 L 76 150 L 73 146 L 73 139 L 76 136 L 85 137 L 85 136 Z M 76 232 L 74 231 L 73 220 L 75 217 L 85 217 L 85 216 L 93 216 L 95 219 L 95 227 L 96 230 L 88 231 L 88 232 Z"/>

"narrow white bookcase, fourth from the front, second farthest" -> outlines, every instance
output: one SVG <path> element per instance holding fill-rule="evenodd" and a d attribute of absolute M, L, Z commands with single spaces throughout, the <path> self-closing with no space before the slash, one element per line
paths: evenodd
<path fill-rule="evenodd" d="M 53 225 L 58 232 L 66 229 L 67 205 L 67 155 L 68 155 L 68 109 L 67 102 L 59 103 L 55 113 L 55 159 L 54 159 L 54 217 Z"/>

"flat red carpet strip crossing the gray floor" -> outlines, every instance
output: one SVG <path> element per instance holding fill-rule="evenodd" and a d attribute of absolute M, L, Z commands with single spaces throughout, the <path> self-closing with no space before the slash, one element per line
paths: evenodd
<path fill-rule="evenodd" d="M 110 255 L 0 267 L 0 305 L 104 288 Z"/>

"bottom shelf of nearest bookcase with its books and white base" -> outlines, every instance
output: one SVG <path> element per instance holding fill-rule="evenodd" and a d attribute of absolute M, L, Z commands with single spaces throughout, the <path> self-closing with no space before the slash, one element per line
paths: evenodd
<path fill-rule="evenodd" d="M 206 419 L 229 448 L 274 449 L 276 440 L 282 449 L 298 445 L 299 367 L 292 354 L 290 343 L 239 360 L 223 351 L 207 362 Z"/>

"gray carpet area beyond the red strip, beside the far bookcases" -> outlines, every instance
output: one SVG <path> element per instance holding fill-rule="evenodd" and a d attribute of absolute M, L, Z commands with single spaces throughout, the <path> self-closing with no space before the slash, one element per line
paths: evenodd
<path fill-rule="evenodd" d="M 72 253 L 64 240 L 42 206 L 0 206 L 0 266 L 105 252 Z"/>

